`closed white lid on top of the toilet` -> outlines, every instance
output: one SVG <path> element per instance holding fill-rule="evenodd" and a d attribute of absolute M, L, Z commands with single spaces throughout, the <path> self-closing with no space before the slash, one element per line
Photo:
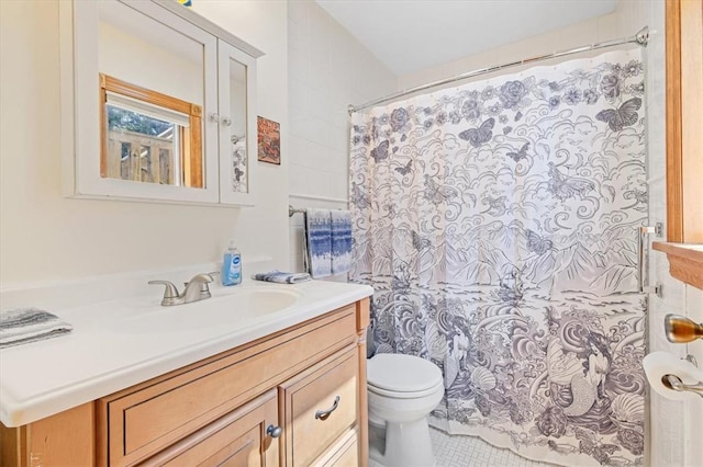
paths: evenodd
<path fill-rule="evenodd" d="M 366 364 L 369 385 L 395 392 L 417 392 L 442 384 L 439 368 L 424 358 L 381 353 Z"/>

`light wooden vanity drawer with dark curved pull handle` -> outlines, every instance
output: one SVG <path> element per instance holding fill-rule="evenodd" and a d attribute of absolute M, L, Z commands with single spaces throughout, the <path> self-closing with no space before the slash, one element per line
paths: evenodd
<path fill-rule="evenodd" d="M 286 465 L 310 466 L 357 422 L 358 351 L 341 351 L 279 387 Z"/>

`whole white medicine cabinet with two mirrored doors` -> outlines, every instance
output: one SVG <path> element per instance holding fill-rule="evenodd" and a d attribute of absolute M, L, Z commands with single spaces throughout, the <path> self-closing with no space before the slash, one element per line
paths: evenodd
<path fill-rule="evenodd" d="M 172 0 L 59 8 L 66 195 L 254 205 L 263 53 Z"/>

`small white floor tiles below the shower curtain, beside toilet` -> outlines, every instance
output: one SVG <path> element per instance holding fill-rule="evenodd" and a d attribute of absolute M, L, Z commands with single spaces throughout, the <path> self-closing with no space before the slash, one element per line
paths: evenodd
<path fill-rule="evenodd" d="M 473 436 L 450 436 L 429 429 L 437 467 L 554 467 L 554 464 L 526 459 L 509 449 L 494 447 Z M 369 467 L 383 467 L 369 460 Z M 426 467 L 426 466 L 408 466 Z"/>

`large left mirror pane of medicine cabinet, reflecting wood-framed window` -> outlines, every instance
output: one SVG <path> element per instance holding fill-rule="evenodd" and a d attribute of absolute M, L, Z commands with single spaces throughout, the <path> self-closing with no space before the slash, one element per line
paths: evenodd
<path fill-rule="evenodd" d="M 203 187 L 203 46 L 120 2 L 98 2 L 100 175 Z"/>

